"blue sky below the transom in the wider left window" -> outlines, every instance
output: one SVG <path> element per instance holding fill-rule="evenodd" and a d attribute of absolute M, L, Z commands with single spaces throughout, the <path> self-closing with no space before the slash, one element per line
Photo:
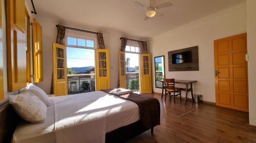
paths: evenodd
<path fill-rule="evenodd" d="M 95 66 L 95 50 L 67 47 L 67 67 Z"/>

